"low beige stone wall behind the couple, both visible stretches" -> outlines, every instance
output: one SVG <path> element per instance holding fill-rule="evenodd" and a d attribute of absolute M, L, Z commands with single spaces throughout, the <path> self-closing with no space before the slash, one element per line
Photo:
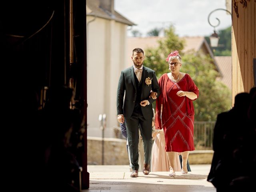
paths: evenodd
<path fill-rule="evenodd" d="M 191 151 L 188 156 L 190 164 L 211 164 L 212 150 Z M 102 164 L 102 138 L 87 137 L 87 164 Z M 126 140 L 104 138 L 104 165 L 129 165 Z"/>

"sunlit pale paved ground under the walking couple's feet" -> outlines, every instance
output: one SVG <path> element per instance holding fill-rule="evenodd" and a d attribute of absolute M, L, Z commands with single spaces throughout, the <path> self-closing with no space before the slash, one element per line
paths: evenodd
<path fill-rule="evenodd" d="M 192 172 L 168 176 L 168 172 L 139 172 L 138 178 L 131 178 L 129 166 L 88 165 L 90 188 L 83 192 L 216 192 L 206 181 L 210 165 L 190 165 Z"/>

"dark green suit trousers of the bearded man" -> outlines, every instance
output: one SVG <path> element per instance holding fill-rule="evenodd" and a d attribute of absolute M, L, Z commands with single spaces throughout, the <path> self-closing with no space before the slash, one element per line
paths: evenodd
<path fill-rule="evenodd" d="M 152 118 L 145 119 L 140 110 L 134 111 L 130 118 L 125 118 L 127 139 L 130 150 L 130 162 L 132 170 L 138 170 L 139 164 L 139 125 L 144 143 L 144 162 L 150 164 L 152 150 Z"/>

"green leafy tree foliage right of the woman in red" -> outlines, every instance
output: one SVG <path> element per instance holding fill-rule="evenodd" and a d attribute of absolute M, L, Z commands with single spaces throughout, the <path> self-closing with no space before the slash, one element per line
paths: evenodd
<path fill-rule="evenodd" d="M 232 105 L 232 94 L 219 77 L 212 58 L 203 54 L 190 53 L 183 56 L 182 72 L 194 76 L 199 89 L 199 97 L 193 102 L 195 121 L 214 121 L 217 115 L 227 111 Z M 194 72 L 196 68 L 197 72 Z M 193 72 L 191 74 L 190 72 Z"/>

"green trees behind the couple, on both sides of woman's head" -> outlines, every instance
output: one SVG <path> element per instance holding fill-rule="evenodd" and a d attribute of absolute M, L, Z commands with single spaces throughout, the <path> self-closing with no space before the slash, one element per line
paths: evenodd
<path fill-rule="evenodd" d="M 181 71 L 190 74 L 199 88 L 199 97 L 193 102 L 195 121 L 214 121 L 217 114 L 230 109 L 231 91 L 216 80 L 219 74 L 210 56 L 195 52 L 184 55 L 182 49 L 183 42 L 174 33 L 173 26 L 170 26 L 166 30 L 166 37 L 159 41 L 158 48 L 145 50 L 144 65 L 155 70 L 157 78 L 160 78 L 169 72 L 166 62 L 168 54 L 179 50 L 183 61 Z"/>

